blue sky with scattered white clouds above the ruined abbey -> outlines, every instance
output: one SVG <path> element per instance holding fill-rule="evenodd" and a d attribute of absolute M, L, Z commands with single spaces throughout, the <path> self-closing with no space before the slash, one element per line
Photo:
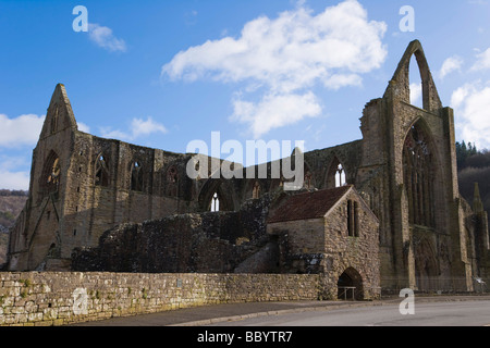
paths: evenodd
<path fill-rule="evenodd" d="M 414 39 L 457 139 L 490 148 L 489 2 L 0 0 L 0 188 L 28 188 L 58 83 L 97 136 L 185 152 L 220 132 L 314 150 L 362 137 L 364 105 Z M 73 30 L 76 5 L 86 33 Z M 400 28 L 403 5 L 413 32 Z"/>

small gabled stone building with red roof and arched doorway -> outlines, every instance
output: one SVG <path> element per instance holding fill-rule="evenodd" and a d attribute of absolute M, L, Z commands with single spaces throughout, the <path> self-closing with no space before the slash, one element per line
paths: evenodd
<path fill-rule="evenodd" d="M 333 291 L 342 279 L 360 298 L 379 295 L 378 228 L 352 185 L 290 196 L 267 220 L 268 234 L 279 241 L 281 272 L 324 274 L 326 288 Z"/>

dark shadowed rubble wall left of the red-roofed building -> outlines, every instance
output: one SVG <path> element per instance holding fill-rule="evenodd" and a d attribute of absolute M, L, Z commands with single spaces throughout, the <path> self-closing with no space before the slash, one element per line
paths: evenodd
<path fill-rule="evenodd" d="M 94 248 L 75 249 L 83 272 L 277 273 L 266 235 L 268 195 L 236 212 L 180 214 L 108 231 Z M 260 252 L 260 250 L 268 252 Z M 250 263 L 247 259 L 253 257 Z M 246 266 L 245 266 L 246 265 Z M 241 271 L 243 269 L 243 271 Z"/>

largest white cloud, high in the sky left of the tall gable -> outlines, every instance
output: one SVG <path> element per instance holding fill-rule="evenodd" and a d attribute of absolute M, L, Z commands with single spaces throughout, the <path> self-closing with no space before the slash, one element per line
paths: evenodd
<path fill-rule="evenodd" d="M 208 40 L 179 52 L 162 66 L 162 76 L 245 83 L 245 90 L 260 86 L 264 91 L 258 102 L 233 101 L 232 120 L 246 119 L 254 134 L 265 134 L 292 124 L 291 120 L 297 122 L 321 112 L 293 107 L 296 114 L 277 114 L 265 126 L 267 130 L 258 132 L 252 120 L 259 119 L 274 101 L 318 105 L 311 98 L 318 83 L 332 90 L 362 85 L 360 75 L 380 67 L 385 60 L 387 49 L 381 42 L 385 30 L 385 23 L 368 21 L 367 11 L 356 0 L 329 7 L 317 15 L 298 2 L 277 18 L 260 16 L 246 23 L 237 38 Z"/>

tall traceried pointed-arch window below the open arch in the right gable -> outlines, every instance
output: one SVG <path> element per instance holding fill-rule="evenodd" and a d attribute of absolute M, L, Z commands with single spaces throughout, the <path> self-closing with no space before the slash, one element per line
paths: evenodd
<path fill-rule="evenodd" d="M 427 134 L 413 126 L 405 139 L 403 169 L 409 223 L 433 227 L 433 158 Z"/>

